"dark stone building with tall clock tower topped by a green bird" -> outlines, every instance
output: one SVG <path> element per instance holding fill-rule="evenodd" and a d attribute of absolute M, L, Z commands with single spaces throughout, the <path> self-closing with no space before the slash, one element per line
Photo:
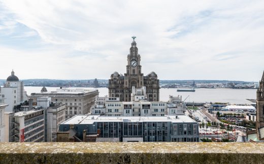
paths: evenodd
<path fill-rule="evenodd" d="M 126 73 L 124 75 L 114 72 L 109 79 L 109 97 L 119 97 L 120 101 L 130 102 L 132 86 L 146 87 L 147 100 L 159 101 L 159 80 L 155 72 L 147 76 L 141 72 L 141 56 L 138 53 L 137 43 L 133 42 L 127 55 Z"/>

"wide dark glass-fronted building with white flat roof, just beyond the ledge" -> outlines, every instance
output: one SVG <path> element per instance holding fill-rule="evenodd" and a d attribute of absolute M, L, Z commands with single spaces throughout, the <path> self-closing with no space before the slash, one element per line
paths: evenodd
<path fill-rule="evenodd" d="M 78 139 L 76 142 L 91 142 L 86 138 L 91 136 L 95 138 L 94 141 L 104 138 L 107 142 L 111 139 L 112 141 L 119 139 L 119 142 L 199 142 L 199 124 L 185 115 L 158 117 L 76 115 L 62 122 L 59 132 L 58 139 L 67 134 L 74 140 Z"/>

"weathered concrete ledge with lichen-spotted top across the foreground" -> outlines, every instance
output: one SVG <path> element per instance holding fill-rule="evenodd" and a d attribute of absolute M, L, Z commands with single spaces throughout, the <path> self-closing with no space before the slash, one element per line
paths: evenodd
<path fill-rule="evenodd" d="M 0 143 L 0 163 L 264 163 L 264 143 Z"/>

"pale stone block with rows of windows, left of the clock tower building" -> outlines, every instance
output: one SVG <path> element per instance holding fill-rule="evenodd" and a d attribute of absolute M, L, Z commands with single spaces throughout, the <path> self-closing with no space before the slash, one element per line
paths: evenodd
<path fill-rule="evenodd" d="M 65 104 L 65 119 L 77 114 L 88 114 L 94 104 L 98 90 L 59 88 L 56 91 L 31 93 L 29 96 L 37 104 L 37 97 L 51 97 L 51 102 Z"/>

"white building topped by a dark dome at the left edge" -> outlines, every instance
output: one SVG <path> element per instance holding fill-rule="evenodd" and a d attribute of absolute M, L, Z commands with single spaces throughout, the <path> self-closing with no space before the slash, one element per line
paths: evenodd
<path fill-rule="evenodd" d="M 12 71 L 4 86 L 0 87 L 0 104 L 8 105 L 5 110 L 6 112 L 16 112 L 19 111 L 20 104 L 26 100 L 24 83 L 19 81 L 14 71 Z"/>

